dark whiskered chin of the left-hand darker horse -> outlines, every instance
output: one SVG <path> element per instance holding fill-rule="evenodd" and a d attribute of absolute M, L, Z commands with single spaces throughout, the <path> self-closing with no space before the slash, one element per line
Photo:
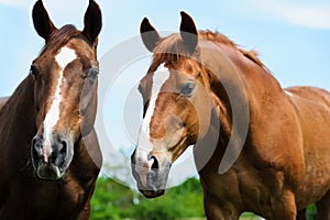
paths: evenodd
<path fill-rule="evenodd" d="M 58 166 L 53 164 L 43 164 L 35 170 L 36 177 L 43 180 L 59 180 L 64 175 L 65 170 L 62 170 Z"/>

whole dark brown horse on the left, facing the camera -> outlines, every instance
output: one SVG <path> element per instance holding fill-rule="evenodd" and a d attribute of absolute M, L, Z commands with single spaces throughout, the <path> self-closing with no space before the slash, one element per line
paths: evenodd
<path fill-rule="evenodd" d="M 0 219 L 89 219 L 101 12 L 90 0 L 84 31 L 56 29 L 38 0 L 33 23 L 46 44 L 0 110 Z"/>

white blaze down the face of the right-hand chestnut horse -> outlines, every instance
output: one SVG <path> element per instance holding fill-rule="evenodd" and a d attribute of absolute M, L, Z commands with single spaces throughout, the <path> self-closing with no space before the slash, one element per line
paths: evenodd
<path fill-rule="evenodd" d="M 147 155 L 152 151 L 153 146 L 150 141 L 151 120 L 154 114 L 156 101 L 161 92 L 161 89 L 168 78 L 169 78 L 169 70 L 164 65 L 160 66 L 153 75 L 151 99 L 144 119 L 142 121 L 139 140 L 138 140 L 138 147 L 135 152 L 138 164 L 140 163 L 139 160 L 144 160 L 144 162 L 146 162 Z"/>

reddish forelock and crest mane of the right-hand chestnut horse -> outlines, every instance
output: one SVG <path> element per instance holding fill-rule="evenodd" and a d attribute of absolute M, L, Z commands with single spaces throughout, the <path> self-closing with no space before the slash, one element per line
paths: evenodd
<path fill-rule="evenodd" d="M 267 67 L 260 61 L 257 57 L 256 51 L 245 51 L 240 48 L 238 44 L 232 42 L 226 35 L 219 32 L 212 32 L 209 30 L 198 31 L 198 37 L 201 40 L 219 43 L 226 46 L 229 46 L 233 50 L 237 50 L 239 53 L 243 54 L 246 58 L 264 68 L 266 72 L 270 72 Z M 165 38 L 162 38 L 160 44 L 154 50 L 154 59 L 150 70 L 155 70 L 164 62 L 180 62 L 184 57 L 189 57 L 183 40 L 179 34 L 172 34 Z"/>

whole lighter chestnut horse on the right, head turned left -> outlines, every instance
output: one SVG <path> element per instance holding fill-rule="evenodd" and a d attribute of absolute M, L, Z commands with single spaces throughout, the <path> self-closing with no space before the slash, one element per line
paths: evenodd
<path fill-rule="evenodd" d="M 144 118 L 132 154 L 145 197 L 164 194 L 170 165 L 195 145 L 208 219 L 253 211 L 294 220 L 312 202 L 330 219 L 328 91 L 283 89 L 254 52 L 197 31 L 185 12 L 180 33 L 161 37 L 144 19 L 141 34 L 154 54 L 140 82 Z"/>

